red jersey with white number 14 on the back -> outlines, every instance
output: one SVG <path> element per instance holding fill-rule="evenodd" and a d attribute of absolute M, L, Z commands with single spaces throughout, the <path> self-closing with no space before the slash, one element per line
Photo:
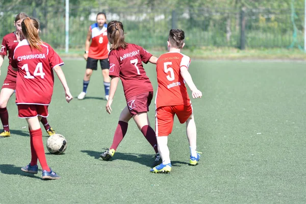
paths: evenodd
<path fill-rule="evenodd" d="M 31 49 L 27 40 L 18 43 L 14 50 L 12 67 L 17 68 L 16 104 L 49 105 L 53 93 L 56 65 L 64 62 L 47 43 Z"/>

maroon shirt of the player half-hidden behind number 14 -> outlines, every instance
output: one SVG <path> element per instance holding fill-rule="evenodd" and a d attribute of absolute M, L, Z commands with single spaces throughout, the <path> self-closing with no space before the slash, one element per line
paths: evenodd
<path fill-rule="evenodd" d="M 14 33 L 9 33 L 3 37 L 0 55 L 6 56 L 9 53 L 9 66 L 8 66 L 8 75 L 16 78 L 17 72 L 12 69 L 11 62 L 13 59 L 14 48 L 18 44 L 16 35 Z"/>

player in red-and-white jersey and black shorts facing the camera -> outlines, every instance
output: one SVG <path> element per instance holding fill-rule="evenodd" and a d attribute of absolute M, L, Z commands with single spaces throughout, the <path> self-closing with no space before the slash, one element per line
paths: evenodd
<path fill-rule="evenodd" d="M 100 12 L 97 14 L 97 22 L 90 25 L 85 42 L 84 58 L 87 61 L 86 71 L 83 79 L 83 91 L 78 95 L 82 100 L 86 96 L 87 87 L 93 70 L 97 70 L 97 63 L 100 61 L 102 74 L 104 78 L 105 99 L 108 100 L 110 89 L 110 77 L 108 61 L 109 41 L 107 38 L 106 14 Z M 91 40 L 91 44 L 90 44 Z"/>

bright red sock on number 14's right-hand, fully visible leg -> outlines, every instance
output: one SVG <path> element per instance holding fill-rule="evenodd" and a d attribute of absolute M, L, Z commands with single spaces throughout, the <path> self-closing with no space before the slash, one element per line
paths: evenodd
<path fill-rule="evenodd" d="M 50 171 L 47 165 L 46 156 L 44 154 L 41 129 L 30 131 L 30 136 L 32 137 L 33 148 L 36 152 L 42 170 Z"/>

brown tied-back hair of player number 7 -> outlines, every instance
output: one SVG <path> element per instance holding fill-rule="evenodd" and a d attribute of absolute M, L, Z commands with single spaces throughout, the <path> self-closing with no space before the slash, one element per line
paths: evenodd
<path fill-rule="evenodd" d="M 113 20 L 107 24 L 107 33 L 109 37 L 114 41 L 111 49 L 118 49 L 122 47 L 125 49 L 127 43 L 124 41 L 123 24 L 120 21 Z"/>

